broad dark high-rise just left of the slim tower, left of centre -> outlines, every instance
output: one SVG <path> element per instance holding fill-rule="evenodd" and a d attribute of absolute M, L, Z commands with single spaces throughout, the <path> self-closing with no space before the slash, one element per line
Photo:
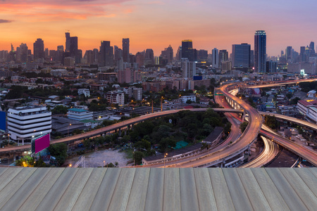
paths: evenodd
<path fill-rule="evenodd" d="M 113 46 L 110 41 L 101 41 L 98 58 L 99 66 L 113 66 Z"/>

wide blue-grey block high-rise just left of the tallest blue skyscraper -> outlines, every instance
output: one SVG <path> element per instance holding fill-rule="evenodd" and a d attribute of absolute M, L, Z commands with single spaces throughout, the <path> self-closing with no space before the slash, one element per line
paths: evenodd
<path fill-rule="evenodd" d="M 233 44 L 232 68 L 249 68 L 250 50 L 251 46 L 249 44 Z"/>

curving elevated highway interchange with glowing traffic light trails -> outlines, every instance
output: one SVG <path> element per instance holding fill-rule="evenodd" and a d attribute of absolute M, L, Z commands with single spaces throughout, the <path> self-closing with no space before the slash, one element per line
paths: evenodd
<path fill-rule="evenodd" d="M 313 80 L 317 79 L 306 79 L 301 81 L 292 81 L 292 82 L 285 82 L 280 84 L 262 84 L 262 85 L 256 85 L 253 86 L 254 88 L 263 88 L 263 87 L 275 87 L 275 86 L 281 86 L 283 84 L 294 84 L 299 82 L 311 82 Z M 235 84 L 236 85 L 236 84 Z M 266 164 L 269 160 L 273 159 L 276 154 L 277 146 L 273 143 L 271 143 L 270 140 L 273 140 L 275 143 L 278 143 L 280 146 L 283 146 L 290 151 L 293 151 L 294 153 L 297 153 L 297 155 L 300 155 L 302 158 L 309 160 L 313 165 L 317 166 L 317 153 L 314 151 L 311 151 L 307 148 L 304 148 L 303 146 L 299 146 L 296 143 L 293 143 L 287 139 L 282 138 L 281 136 L 278 136 L 278 134 L 273 134 L 272 132 L 268 132 L 268 129 L 261 129 L 262 127 L 262 117 L 261 115 L 267 115 L 267 113 L 259 113 L 255 108 L 251 107 L 248 103 L 244 102 L 242 99 L 237 98 L 237 96 L 230 94 L 230 91 L 232 89 L 236 89 L 234 84 L 226 84 L 218 91 L 220 91 L 223 96 L 215 96 L 215 100 L 217 103 L 219 103 L 221 106 L 225 107 L 227 112 L 233 112 L 233 113 L 240 113 L 241 110 L 234 110 L 230 109 L 228 110 L 228 105 L 225 106 L 226 102 L 225 99 L 229 99 L 229 101 L 234 101 L 235 103 L 240 105 L 240 108 L 242 108 L 245 113 L 248 114 L 249 119 L 249 125 L 247 129 L 245 129 L 244 133 L 240 133 L 239 125 L 240 122 L 237 120 L 240 120 L 240 118 L 237 117 L 236 114 L 233 113 L 225 113 L 225 115 L 228 117 L 228 120 L 232 123 L 232 132 L 230 133 L 230 136 L 228 136 L 228 139 L 226 139 L 223 143 L 221 143 L 219 146 L 216 146 L 216 148 L 213 148 L 211 151 L 195 155 L 194 157 L 190 158 L 182 158 L 180 160 L 173 160 L 170 162 L 166 162 L 167 167 L 203 167 L 203 166 L 210 166 L 211 164 L 216 164 L 218 162 L 223 162 L 225 159 L 228 159 L 232 154 L 237 153 L 243 153 L 247 147 L 253 143 L 253 141 L 257 138 L 258 134 L 261 133 L 263 136 L 265 136 L 268 139 L 265 140 L 265 148 L 263 149 L 263 152 L 261 155 L 259 155 L 258 158 L 254 159 L 252 162 L 249 162 L 248 165 L 244 165 L 243 167 L 260 167 L 264 164 Z M 232 91 L 231 91 L 232 92 Z M 226 108 L 227 107 L 227 108 Z M 193 111 L 204 111 L 206 108 L 200 108 L 200 109 L 189 109 Z M 214 109 L 217 110 L 217 109 Z M 118 130 L 124 127 L 130 127 L 132 124 L 136 124 L 137 122 L 142 122 L 144 120 L 148 120 L 150 118 L 154 117 L 161 117 L 164 115 L 169 115 L 172 113 L 176 113 L 180 110 L 168 110 L 161 113 L 151 113 L 148 115 L 143 115 L 141 117 L 136 117 L 130 120 L 125 120 L 123 122 L 119 122 L 116 124 L 112 124 L 107 127 L 103 127 L 101 129 L 96 129 L 91 132 L 86 132 L 84 134 L 78 134 L 75 136 L 68 136 L 63 139 L 56 139 L 52 140 L 51 144 L 54 143 L 70 143 L 72 141 L 80 141 L 82 139 L 87 139 L 89 137 L 97 136 L 100 134 L 106 134 L 107 132 L 111 132 L 114 130 Z M 285 120 L 291 120 L 293 122 L 296 122 L 298 124 L 304 125 L 306 127 L 310 127 L 311 129 L 317 129 L 316 124 L 312 124 L 310 122 L 306 122 L 304 120 L 297 120 L 295 118 L 291 119 L 290 117 L 285 117 L 282 115 L 275 116 L 285 119 Z M 27 151 L 30 150 L 30 145 L 25 146 L 15 146 L 11 148 L 0 148 L 0 153 L 12 153 L 15 151 Z M 232 157 L 232 156 L 231 156 Z M 163 163 L 159 163 L 156 165 L 146 165 L 146 167 L 162 167 Z"/>

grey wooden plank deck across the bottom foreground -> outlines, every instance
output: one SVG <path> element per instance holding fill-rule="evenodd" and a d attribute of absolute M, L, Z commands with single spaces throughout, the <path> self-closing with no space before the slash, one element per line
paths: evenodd
<path fill-rule="evenodd" d="M 0 168 L 0 210 L 317 210 L 317 168 Z"/>

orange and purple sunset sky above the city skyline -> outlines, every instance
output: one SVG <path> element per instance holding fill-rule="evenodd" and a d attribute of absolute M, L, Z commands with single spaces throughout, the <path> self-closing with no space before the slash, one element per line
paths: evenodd
<path fill-rule="evenodd" d="M 130 53 L 154 49 L 159 56 L 169 44 L 176 53 L 182 39 L 196 49 L 228 49 L 249 43 L 265 30 L 267 53 L 278 56 L 286 46 L 317 43 L 316 0 L 0 0 L 0 50 L 37 38 L 45 48 L 65 47 L 65 32 L 78 37 L 83 53 L 99 49 L 100 41 L 122 48 L 130 38 Z"/>

